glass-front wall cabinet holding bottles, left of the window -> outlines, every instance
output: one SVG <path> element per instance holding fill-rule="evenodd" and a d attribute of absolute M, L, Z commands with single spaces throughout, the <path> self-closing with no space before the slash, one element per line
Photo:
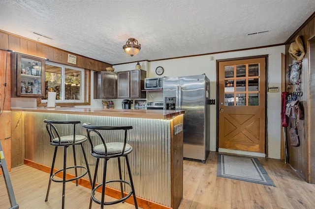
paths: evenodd
<path fill-rule="evenodd" d="M 23 53 L 11 54 L 11 96 L 45 96 L 45 58 Z"/>

